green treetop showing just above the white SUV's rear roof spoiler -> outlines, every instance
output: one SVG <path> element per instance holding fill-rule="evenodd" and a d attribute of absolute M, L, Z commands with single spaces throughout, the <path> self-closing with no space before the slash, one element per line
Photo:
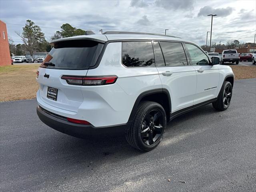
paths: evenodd
<path fill-rule="evenodd" d="M 68 23 L 63 24 L 60 28 L 61 28 L 61 30 L 60 31 L 56 31 L 54 36 L 52 36 L 52 40 L 59 39 L 59 38 L 65 38 L 65 37 L 84 35 L 85 34 L 85 30 L 77 29 L 75 27 L 72 27 Z"/>

